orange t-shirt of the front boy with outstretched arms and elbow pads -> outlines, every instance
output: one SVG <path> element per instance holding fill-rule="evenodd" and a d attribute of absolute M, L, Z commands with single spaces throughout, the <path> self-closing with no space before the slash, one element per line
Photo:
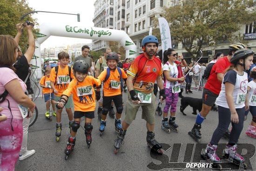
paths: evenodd
<path fill-rule="evenodd" d="M 101 80 L 87 76 L 83 82 L 74 79 L 69 83 L 67 90 L 62 94 L 68 97 L 73 94 L 74 111 L 91 112 L 95 110 L 94 84 L 101 85 Z"/>

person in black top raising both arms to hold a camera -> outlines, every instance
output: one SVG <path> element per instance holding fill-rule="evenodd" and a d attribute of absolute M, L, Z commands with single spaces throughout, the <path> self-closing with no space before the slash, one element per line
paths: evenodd
<path fill-rule="evenodd" d="M 35 49 L 35 41 L 34 41 L 34 36 L 32 33 L 34 24 L 30 21 L 26 21 L 24 24 L 17 24 L 17 34 L 15 36 L 15 41 L 17 44 L 19 44 L 20 41 L 20 36 L 23 32 L 23 28 L 27 29 L 27 34 L 28 34 L 28 48 L 26 53 L 22 54 L 20 48 L 18 50 L 19 56 L 14 64 L 14 68 L 16 69 L 16 74 L 18 77 L 24 81 L 27 85 L 27 95 L 32 99 L 31 94 L 33 94 L 33 90 L 31 88 L 30 84 L 30 71 L 29 71 L 29 63 L 30 60 L 32 59 L 34 55 L 34 49 Z M 28 133 L 28 126 L 29 126 L 30 118 L 24 118 L 23 119 L 23 140 L 22 140 L 22 145 L 21 145 L 21 150 L 20 150 L 20 157 L 19 160 L 24 160 L 30 156 L 32 156 L 35 151 L 34 150 L 27 150 L 27 133 Z"/>

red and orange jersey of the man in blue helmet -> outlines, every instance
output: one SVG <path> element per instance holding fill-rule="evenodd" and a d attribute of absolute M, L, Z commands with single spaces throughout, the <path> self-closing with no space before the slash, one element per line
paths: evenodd
<path fill-rule="evenodd" d="M 161 60 L 155 56 L 148 59 L 145 53 L 142 53 L 134 59 L 127 74 L 135 77 L 135 90 L 149 94 L 153 92 L 156 78 L 162 76 Z"/>

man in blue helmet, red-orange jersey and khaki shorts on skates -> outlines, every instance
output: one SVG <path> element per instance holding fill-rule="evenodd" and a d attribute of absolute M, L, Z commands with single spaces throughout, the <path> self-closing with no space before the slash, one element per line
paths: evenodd
<path fill-rule="evenodd" d="M 128 70 L 127 87 L 128 100 L 126 103 L 125 119 L 122 122 L 122 129 L 115 139 L 115 153 L 121 147 L 128 126 L 136 118 L 139 107 L 142 108 L 141 118 L 147 122 L 148 146 L 156 153 L 162 154 L 162 145 L 155 140 L 155 94 L 153 92 L 155 80 L 160 88 L 161 101 L 165 98 L 162 84 L 162 68 L 160 59 L 155 57 L 158 48 L 158 39 L 148 35 L 142 39 L 141 55 L 135 58 Z"/>

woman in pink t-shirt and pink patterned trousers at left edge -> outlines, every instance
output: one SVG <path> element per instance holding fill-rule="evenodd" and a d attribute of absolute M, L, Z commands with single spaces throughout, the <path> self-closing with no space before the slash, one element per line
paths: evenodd
<path fill-rule="evenodd" d="M 14 73 L 13 63 L 18 57 L 18 45 L 8 35 L 0 35 L 0 170 L 14 171 L 22 142 L 22 120 L 18 104 L 33 112 L 35 104 L 24 93 L 26 84 Z M 26 112 L 27 113 L 27 112 Z"/>

